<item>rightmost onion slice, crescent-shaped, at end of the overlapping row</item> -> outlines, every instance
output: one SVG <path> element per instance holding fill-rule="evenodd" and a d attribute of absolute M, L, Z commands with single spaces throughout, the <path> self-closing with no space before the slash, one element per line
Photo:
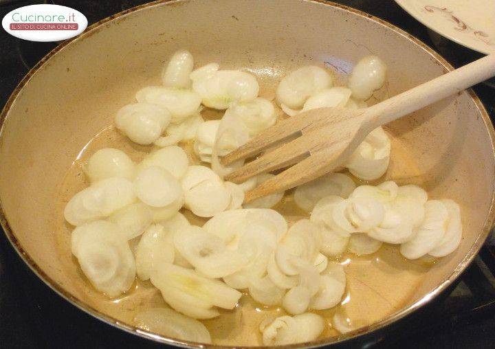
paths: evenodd
<path fill-rule="evenodd" d="M 430 256 L 443 257 L 451 254 L 459 244 L 462 238 L 462 222 L 461 222 L 461 208 L 457 203 L 450 199 L 441 200 L 448 212 L 448 223 L 445 235 L 439 241 L 439 243 L 428 252 Z"/>

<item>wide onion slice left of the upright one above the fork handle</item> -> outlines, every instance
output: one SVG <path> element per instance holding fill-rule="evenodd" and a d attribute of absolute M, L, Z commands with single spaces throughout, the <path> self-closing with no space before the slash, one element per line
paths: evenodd
<path fill-rule="evenodd" d="M 278 84 L 276 99 L 290 109 L 301 109 L 310 95 L 333 85 L 330 74 L 314 65 L 300 67 L 290 72 Z"/>

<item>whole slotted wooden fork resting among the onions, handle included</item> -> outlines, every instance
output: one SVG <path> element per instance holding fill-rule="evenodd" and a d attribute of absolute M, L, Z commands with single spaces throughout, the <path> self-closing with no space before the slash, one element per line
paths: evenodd
<path fill-rule="evenodd" d="M 397 120 L 495 75 L 490 54 L 366 109 L 320 108 L 278 122 L 221 159 L 223 165 L 262 153 L 225 177 L 241 183 L 260 173 L 286 168 L 245 195 L 245 203 L 294 188 L 345 164 L 373 129 Z"/>

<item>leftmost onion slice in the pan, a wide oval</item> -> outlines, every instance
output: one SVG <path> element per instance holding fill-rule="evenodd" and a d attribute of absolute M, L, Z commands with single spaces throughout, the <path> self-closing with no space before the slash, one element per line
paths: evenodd
<path fill-rule="evenodd" d="M 135 199 L 133 185 L 128 179 L 102 179 L 72 196 L 65 206 L 65 220 L 72 225 L 96 221 L 133 203 Z"/>

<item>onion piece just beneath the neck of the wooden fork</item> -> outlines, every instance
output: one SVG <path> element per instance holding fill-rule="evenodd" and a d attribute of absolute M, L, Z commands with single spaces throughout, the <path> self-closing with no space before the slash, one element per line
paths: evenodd
<path fill-rule="evenodd" d="M 373 181 L 384 175 L 390 162 L 391 140 L 382 127 L 375 128 L 349 157 L 346 167 L 355 177 Z"/>

